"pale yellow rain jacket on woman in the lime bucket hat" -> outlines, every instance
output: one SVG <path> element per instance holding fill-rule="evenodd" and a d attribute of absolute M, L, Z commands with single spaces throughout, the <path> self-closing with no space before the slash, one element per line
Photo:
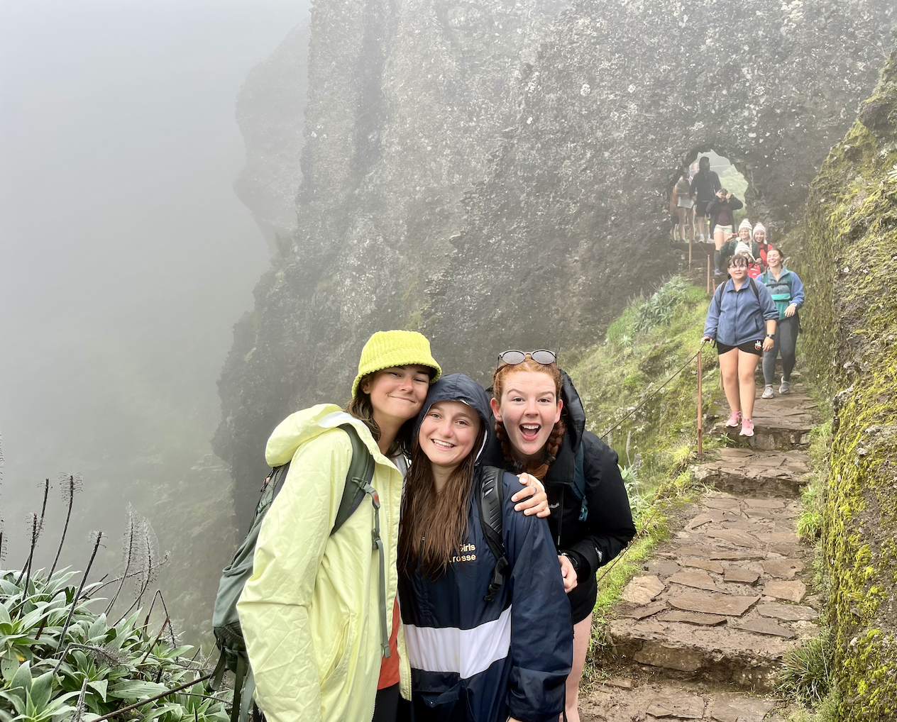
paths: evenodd
<path fill-rule="evenodd" d="M 352 459 L 348 435 L 335 428 L 346 422 L 376 461 L 372 484 L 381 504 L 392 633 L 402 474 L 370 430 L 335 404 L 293 413 L 268 439 L 267 463 L 292 464 L 262 523 L 252 577 L 237 605 L 256 699 L 268 722 L 366 722 L 373 715 L 382 649 L 370 497 L 330 535 Z M 401 691 L 410 699 L 401 629 L 398 646 Z"/>

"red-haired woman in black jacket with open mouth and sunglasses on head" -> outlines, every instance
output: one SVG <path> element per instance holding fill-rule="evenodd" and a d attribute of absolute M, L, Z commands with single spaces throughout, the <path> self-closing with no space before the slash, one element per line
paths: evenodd
<path fill-rule="evenodd" d="M 507 351 L 492 377 L 495 437 L 483 464 L 526 471 L 544 482 L 554 544 L 562 555 L 574 624 L 567 718 L 579 722 L 579 680 L 588 651 L 596 571 L 635 535 L 629 498 L 612 448 L 585 431 L 586 413 L 550 351 Z"/>

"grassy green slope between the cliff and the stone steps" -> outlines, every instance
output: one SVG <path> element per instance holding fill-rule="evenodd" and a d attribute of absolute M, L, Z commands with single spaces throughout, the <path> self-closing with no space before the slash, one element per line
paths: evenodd
<path fill-rule="evenodd" d="M 608 328 L 605 341 L 582 352 L 569 369 L 586 407 L 588 428 L 599 436 L 648 399 L 605 436 L 625 467 L 640 536 L 613 568 L 599 571 L 587 679 L 597 675 L 610 606 L 640 570 L 640 562 L 666 538 L 670 506 L 688 496 L 690 477 L 685 469 L 694 457 L 697 423 L 695 362 L 656 396 L 651 394 L 698 351 L 708 302 L 704 289 L 674 278 L 650 299 L 633 301 Z M 716 352 L 705 348 L 703 362 L 706 414 L 712 404 L 723 403 L 723 396 Z M 705 448 L 718 443 L 706 439 Z"/>

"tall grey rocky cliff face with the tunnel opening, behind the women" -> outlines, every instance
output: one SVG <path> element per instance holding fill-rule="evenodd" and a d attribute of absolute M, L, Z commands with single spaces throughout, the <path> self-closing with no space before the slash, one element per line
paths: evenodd
<path fill-rule="evenodd" d="M 345 401 L 379 328 L 447 370 L 587 345 L 675 267 L 665 187 L 701 150 L 786 230 L 874 86 L 890 0 L 320 2 L 292 248 L 222 373 L 241 514 L 274 425 Z M 246 488 L 244 488 L 246 487 Z"/>

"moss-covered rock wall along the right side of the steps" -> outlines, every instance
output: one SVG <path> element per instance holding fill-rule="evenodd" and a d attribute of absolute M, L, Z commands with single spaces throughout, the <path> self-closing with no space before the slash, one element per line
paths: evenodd
<path fill-rule="evenodd" d="M 823 552 L 840 719 L 897 718 L 897 51 L 810 189 L 809 374 L 834 397 Z M 788 251 L 789 248 L 786 248 Z"/>

